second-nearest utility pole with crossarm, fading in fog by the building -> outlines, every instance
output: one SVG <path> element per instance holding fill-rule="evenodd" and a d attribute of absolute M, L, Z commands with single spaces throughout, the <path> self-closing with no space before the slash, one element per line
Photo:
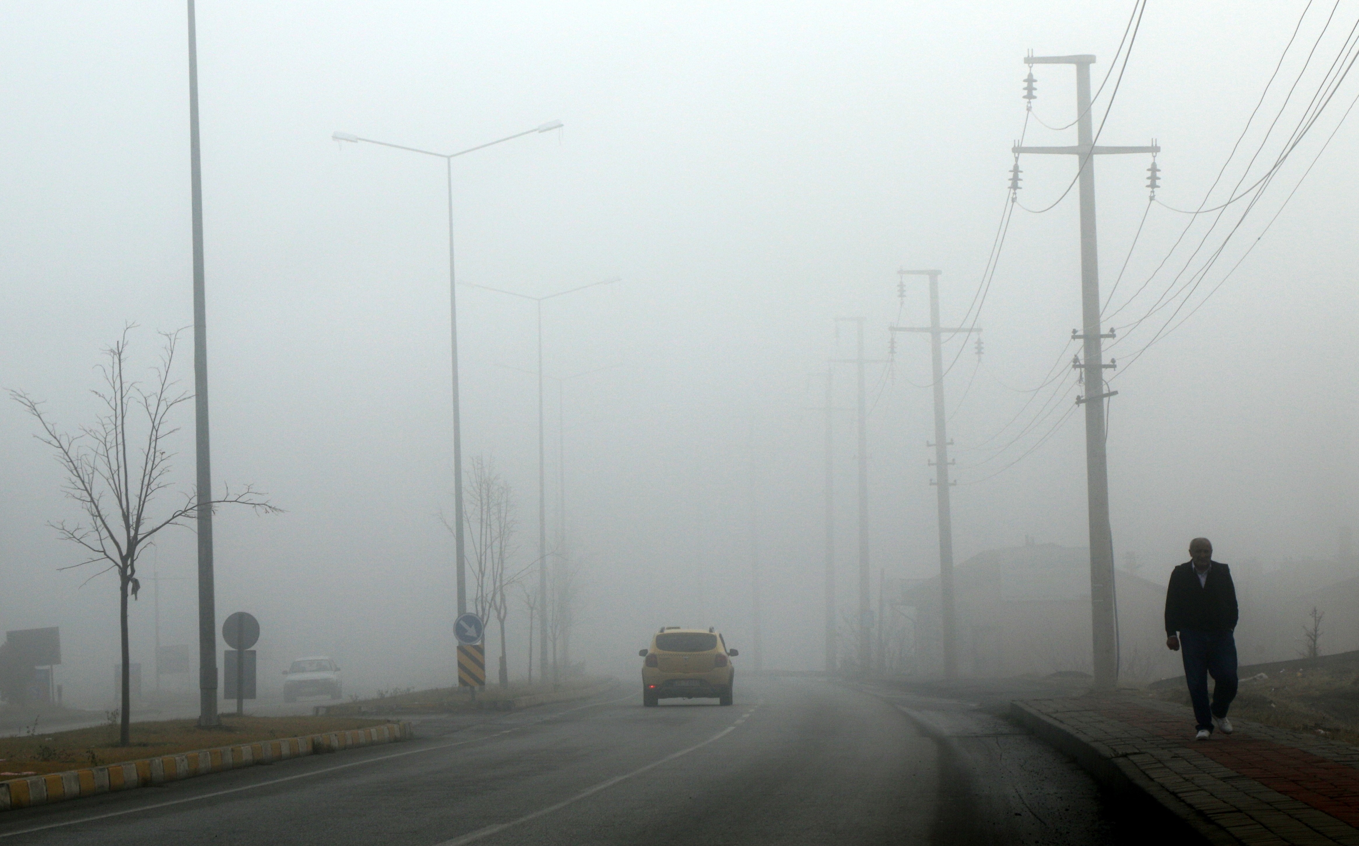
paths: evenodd
<path fill-rule="evenodd" d="M 934 395 L 935 395 L 935 443 L 930 444 L 935 449 L 935 479 L 930 483 L 935 486 L 939 507 L 939 622 L 943 629 L 943 675 L 946 679 L 958 676 L 958 606 L 953 588 L 953 505 L 949 494 L 950 488 L 957 482 L 949 481 L 949 432 L 947 416 L 943 402 L 943 333 L 980 333 L 972 327 L 939 326 L 939 274 L 942 270 L 897 270 L 897 296 L 906 296 L 908 276 L 930 277 L 930 326 L 893 326 L 892 331 L 912 331 L 930 334 L 930 360 L 934 368 Z"/>

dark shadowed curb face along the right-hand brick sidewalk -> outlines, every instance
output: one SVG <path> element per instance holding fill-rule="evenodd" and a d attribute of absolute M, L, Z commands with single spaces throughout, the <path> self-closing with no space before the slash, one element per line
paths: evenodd
<path fill-rule="evenodd" d="M 1205 820 L 1174 793 L 1152 781 L 1127 756 L 1116 754 L 1104 743 L 1087 737 L 1019 701 L 1010 703 L 1010 718 L 1033 732 L 1040 740 L 1075 759 L 1076 765 L 1090 773 L 1099 786 L 1124 796 L 1143 794 L 1150 797 L 1204 842 L 1214 846 L 1237 846 L 1241 842 Z"/>

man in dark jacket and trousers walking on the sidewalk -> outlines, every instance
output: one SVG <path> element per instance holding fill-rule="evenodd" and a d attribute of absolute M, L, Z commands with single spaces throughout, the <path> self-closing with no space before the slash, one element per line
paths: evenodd
<path fill-rule="evenodd" d="M 1166 589 L 1166 646 L 1181 649 L 1185 682 L 1197 722 L 1195 740 L 1214 728 L 1231 733 L 1227 709 L 1237 697 L 1237 585 L 1231 569 L 1212 559 L 1207 538 L 1189 542 L 1189 561 L 1170 572 Z M 1208 703 L 1208 676 L 1215 682 Z"/>

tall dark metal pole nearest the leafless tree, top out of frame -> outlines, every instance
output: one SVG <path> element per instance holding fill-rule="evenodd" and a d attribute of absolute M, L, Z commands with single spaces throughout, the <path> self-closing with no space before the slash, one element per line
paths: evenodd
<path fill-rule="evenodd" d="M 198 152 L 198 37 L 189 0 L 189 182 L 193 197 L 193 409 L 198 524 L 198 725 L 217 716 L 217 606 L 212 573 L 212 462 L 208 444 L 208 306 L 202 280 L 202 159 Z"/>

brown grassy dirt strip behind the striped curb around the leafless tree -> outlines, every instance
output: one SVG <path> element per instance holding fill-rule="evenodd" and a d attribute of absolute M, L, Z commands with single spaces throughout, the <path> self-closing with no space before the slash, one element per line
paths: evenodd
<path fill-rule="evenodd" d="M 239 746 L 326 732 L 382 725 L 382 720 L 356 717 L 236 717 L 224 716 L 222 728 L 201 729 L 194 720 L 133 722 L 132 746 L 120 747 L 118 727 L 101 725 L 69 732 L 43 732 L 23 737 L 0 737 L 0 779 L 43 773 L 61 773 L 175 755 L 219 746 Z"/>

